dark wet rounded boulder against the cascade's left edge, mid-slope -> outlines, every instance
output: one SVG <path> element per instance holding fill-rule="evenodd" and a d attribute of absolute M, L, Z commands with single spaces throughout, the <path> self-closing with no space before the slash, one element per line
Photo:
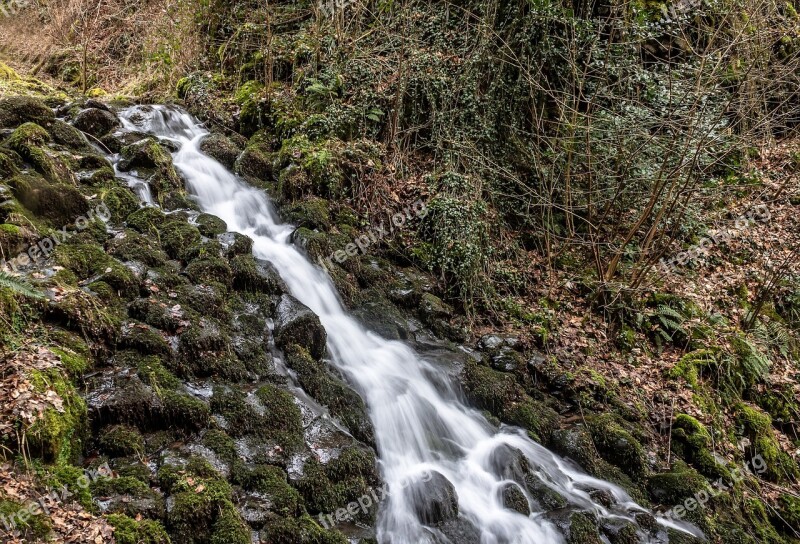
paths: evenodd
<path fill-rule="evenodd" d="M 284 294 L 275 309 L 275 344 L 286 348 L 297 344 L 320 359 L 325 354 L 328 334 L 319 317 L 291 295 Z"/>

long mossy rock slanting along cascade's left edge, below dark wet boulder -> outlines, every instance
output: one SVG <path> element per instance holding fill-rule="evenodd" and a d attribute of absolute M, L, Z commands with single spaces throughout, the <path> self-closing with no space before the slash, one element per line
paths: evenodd
<path fill-rule="evenodd" d="M 303 389 L 327 406 L 358 440 L 374 444 L 375 431 L 361 397 L 325 365 L 315 361 L 305 348 L 290 344 L 285 353 L 286 364 L 297 373 Z"/>

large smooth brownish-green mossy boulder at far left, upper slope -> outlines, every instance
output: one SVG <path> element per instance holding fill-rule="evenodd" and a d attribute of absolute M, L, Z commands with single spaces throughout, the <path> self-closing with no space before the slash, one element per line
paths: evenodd
<path fill-rule="evenodd" d="M 20 174 L 9 180 L 8 185 L 20 204 L 51 226 L 70 225 L 89 212 L 86 199 L 69 185 L 31 174 Z"/>

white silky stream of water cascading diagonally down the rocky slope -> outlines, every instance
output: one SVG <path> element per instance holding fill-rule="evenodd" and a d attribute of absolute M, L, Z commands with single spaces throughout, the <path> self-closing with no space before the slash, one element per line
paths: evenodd
<path fill-rule="evenodd" d="M 510 448 L 524 454 L 545 485 L 582 510 L 624 520 L 644 511 L 621 488 L 586 475 L 521 430 L 493 427 L 462 404 L 442 369 L 404 343 L 381 338 L 350 317 L 330 278 L 290 244 L 294 227 L 280 222 L 265 192 L 246 185 L 200 151 L 208 131 L 190 115 L 153 106 L 131 108 L 122 118 L 126 129 L 174 141 L 179 146 L 175 166 L 203 211 L 252 238 L 255 256 L 270 261 L 292 294 L 319 315 L 328 333 L 331 361 L 364 397 L 375 428 L 382 476 L 391 492 L 379 513 L 379 542 L 448 542 L 419 521 L 414 504 L 419 494 L 401 490 L 406 482 L 434 471 L 454 486 L 460 516 L 476 528 L 481 543 L 564 542 L 542 513 L 525 516 L 503 507 L 501 491 L 511 480 L 508 471 L 498 468 L 498 459 Z M 604 507 L 592 500 L 592 489 L 611 494 L 615 505 Z M 687 524 L 665 518 L 658 522 L 699 536 Z M 666 537 L 663 531 L 657 535 L 640 531 L 640 540 L 666 542 Z"/>

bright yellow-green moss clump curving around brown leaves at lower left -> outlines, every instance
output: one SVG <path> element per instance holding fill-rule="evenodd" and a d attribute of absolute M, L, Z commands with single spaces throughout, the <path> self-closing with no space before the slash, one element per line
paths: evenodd
<path fill-rule="evenodd" d="M 55 391 L 63 401 L 63 411 L 53 407 L 45 409 L 42 417 L 27 430 L 30 452 L 46 461 L 73 460 L 83 452 L 86 433 L 86 403 L 72 382 L 57 368 L 34 370 L 30 375 L 36 391 Z"/>

